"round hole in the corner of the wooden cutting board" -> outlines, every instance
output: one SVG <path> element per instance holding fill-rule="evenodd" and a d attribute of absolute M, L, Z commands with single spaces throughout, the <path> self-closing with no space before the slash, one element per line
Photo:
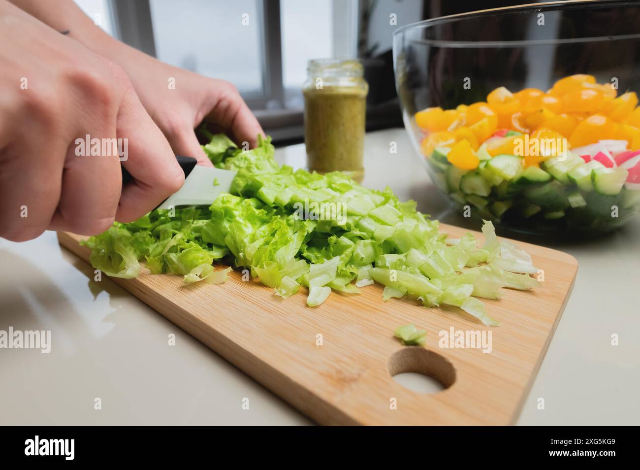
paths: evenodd
<path fill-rule="evenodd" d="M 403 387 L 419 393 L 438 393 L 456 382 L 456 369 L 444 356 L 408 346 L 392 354 L 389 373 Z"/>

